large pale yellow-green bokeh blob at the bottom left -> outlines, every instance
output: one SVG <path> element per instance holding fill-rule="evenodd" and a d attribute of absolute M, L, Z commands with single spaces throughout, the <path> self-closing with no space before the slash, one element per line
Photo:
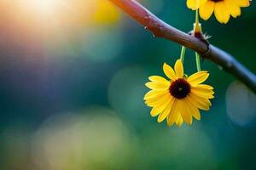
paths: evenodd
<path fill-rule="evenodd" d="M 118 169 L 129 163 L 136 138 L 117 115 L 98 106 L 81 113 L 50 117 L 40 127 L 33 142 L 38 167 Z"/>

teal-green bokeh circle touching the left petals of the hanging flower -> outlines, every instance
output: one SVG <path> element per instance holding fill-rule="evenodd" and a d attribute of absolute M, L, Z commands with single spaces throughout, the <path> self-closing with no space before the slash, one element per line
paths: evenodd
<path fill-rule="evenodd" d="M 115 74 L 108 88 L 108 99 L 115 111 L 141 125 L 147 117 L 149 120 L 148 110 L 143 102 L 146 77 L 140 66 L 128 66 Z"/>

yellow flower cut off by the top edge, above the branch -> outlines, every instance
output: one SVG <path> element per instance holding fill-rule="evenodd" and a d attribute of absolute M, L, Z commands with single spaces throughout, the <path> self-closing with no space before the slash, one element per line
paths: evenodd
<path fill-rule="evenodd" d="M 224 24 L 230 20 L 230 15 L 236 18 L 241 15 L 241 8 L 249 5 L 250 0 L 187 0 L 188 8 L 199 8 L 203 20 L 208 20 L 214 12 L 216 19 Z"/>

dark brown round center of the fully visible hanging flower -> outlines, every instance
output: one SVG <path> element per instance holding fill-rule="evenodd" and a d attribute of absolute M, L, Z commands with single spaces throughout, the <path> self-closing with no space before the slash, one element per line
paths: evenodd
<path fill-rule="evenodd" d="M 169 88 L 170 94 L 177 99 L 185 98 L 190 93 L 190 90 L 191 86 L 184 78 L 179 78 L 172 82 Z"/>

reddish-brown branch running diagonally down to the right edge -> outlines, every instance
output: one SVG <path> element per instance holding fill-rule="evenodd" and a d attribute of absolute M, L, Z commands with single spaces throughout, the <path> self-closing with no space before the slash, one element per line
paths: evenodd
<path fill-rule="evenodd" d="M 141 23 L 145 29 L 151 31 L 155 37 L 163 37 L 195 50 L 201 54 L 203 58 L 212 60 L 214 63 L 220 65 L 224 71 L 230 72 L 230 74 L 235 76 L 238 80 L 244 82 L 247 87 L 251 88 L 256 94 L 256 76 L 230 54 L 166 24 L 166 22 L 157 18 L 148 11 L 147 8 L 144 8 L 143 5 L 137 3 L 135 0 L 110 1 L 124 10 L 126 14 L 129 14 L 131 18 Z"/>

